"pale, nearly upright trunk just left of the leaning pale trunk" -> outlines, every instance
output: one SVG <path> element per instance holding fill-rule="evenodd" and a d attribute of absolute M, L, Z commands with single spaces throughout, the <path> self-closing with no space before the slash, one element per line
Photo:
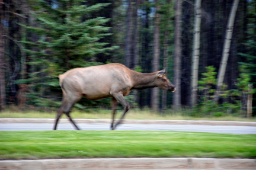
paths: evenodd
<path fill-rule="evenodd" d="M 194 40 L 192 56 L 192 76 L 191 76 L 191 107 L 197 104 L 197 85 L 200 55 L 200 26 L 201 26 L 201 0 L 195 1 L 195 21 L 194 21 Z"/>

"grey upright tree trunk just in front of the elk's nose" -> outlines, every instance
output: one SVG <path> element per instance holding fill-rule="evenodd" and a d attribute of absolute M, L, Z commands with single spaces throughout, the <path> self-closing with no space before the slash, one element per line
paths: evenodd
<path fill-rule="evenodd" d="M 174 92 L 174 108 L 181 108 L 181 0 L 175 4 L 175 53 L 174 53 L 174 85 L 177 90 Z"/>

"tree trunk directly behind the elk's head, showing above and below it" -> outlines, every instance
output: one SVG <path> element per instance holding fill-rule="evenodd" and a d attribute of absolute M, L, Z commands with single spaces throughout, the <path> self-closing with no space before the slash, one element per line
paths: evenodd
<path fill-rule="evenodd" d="M 159 6 L 158 1 L 156 3 L 156 11 L 155 11 L 155 31 L 154 31 L 154 47 L 153 47 L 153 72 L 157 72 L 159 70 L 159 56 L 160 56 L 160 14 L 158 13 Z M 151 98 L 151 107 L 153 111 L 159 110 L 159 88 L 152 89 L 152 98 Z"/>

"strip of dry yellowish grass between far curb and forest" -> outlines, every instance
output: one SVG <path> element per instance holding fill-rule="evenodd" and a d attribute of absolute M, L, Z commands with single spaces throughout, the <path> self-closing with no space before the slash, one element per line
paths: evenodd
<path fill-rule="evenodd" d="M 189 110 L 188 110 L 189 111 Z M 244 118 L 241 116 L 220 116 L 220 117 L 192 117 L 188 116 L 187 110 L 181 112 L 174 112 L 167 110 L 167 114 L 156 114 L 149 109 L 133 109 L 129 110 L 126 114 L 126 119 L 139 119 L 139 120 L 219 120 L 219 121 L 256 121 L 254 118 Z M 111 110 L 94 109 L 90 111 L 77 111 L 71 113 L 73 118 L 94 118 L 94 119 L 108 119 L 111 118 Z M 116 118 L 121 116 L 121 110 L 117 111 Z M 20 111 L 20 110 L 5 110 L 0 113 L 0 118 L 55 118 L 56 111 L 39 112 L 39 111 Z"/>

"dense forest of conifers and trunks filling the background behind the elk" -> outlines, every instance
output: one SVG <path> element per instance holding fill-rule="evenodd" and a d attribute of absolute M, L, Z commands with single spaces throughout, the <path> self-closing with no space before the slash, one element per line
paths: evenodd
<path fill-rule="evenodd" d="M 0 110 L 56 110 L 60 74 L 121 63 L 165 68 L 177 87 L 132 91 L 132 108 L 256 116 L 255 0 L 0 0 L 0 12 Z"/>

